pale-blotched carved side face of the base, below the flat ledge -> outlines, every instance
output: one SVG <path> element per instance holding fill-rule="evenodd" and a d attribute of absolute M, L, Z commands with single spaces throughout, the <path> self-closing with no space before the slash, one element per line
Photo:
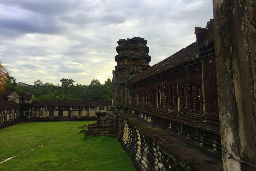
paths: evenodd
<path fill-rule="evenodd" d="M 124 121 L 121 143 L 137 170 L 183 170 L 151 138 Z"/>

